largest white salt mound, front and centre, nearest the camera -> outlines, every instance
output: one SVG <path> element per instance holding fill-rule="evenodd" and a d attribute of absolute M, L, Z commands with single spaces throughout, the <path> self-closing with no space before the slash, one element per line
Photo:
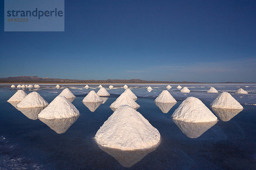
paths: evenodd
<path fill-rule="evenodd" d="M 136 150 L 157 145 L 160 133 L 139 112 L 122 105 L 99 128 L 95 139 L 103 147 Z"/>

